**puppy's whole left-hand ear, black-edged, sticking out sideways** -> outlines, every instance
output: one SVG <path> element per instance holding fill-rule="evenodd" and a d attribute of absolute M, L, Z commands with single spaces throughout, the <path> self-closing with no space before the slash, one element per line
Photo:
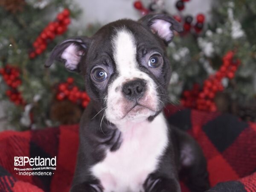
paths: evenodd
<path fill-rule="evenodd" d="M 63 62 L 68 70 L 80 72 L 79 63 L 88 50 L 90 41 L 90 38 L 87 37 L 70 38 L 63 41 L 54 47 L 45 63 L 45 67 L 50 67 L 57 60 Z"/>

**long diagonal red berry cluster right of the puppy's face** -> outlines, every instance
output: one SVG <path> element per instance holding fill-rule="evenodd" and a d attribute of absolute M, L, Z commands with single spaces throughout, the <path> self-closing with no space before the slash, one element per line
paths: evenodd
<path fill-rule="evenodd" d="M 215 75 L 209 76 L 204 81 L 202 90 L 200 90 L 199 84 L 194 84 L 192 90 L 183 92 L 181 104 L 188 108 L 196 108 L 203 111 L 217 111 L 214 98 L 217 92 L 224 90 L 222 79 L 233 79 L 239 64 L 239 59 L 234 60 L 234 52 L 227 52 L 223 57 L 220 69 Z"/>

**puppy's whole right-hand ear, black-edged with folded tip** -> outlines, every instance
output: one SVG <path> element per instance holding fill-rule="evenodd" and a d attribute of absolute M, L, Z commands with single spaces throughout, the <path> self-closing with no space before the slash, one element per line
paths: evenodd
<path fill-rule="evenodd" d="M 183 32 L 180 23 L 167 14 L 148 14 L 142 17 L 139 22 L 151 29 L 151 32 L 157 34 L 166 44 L 169 44 L 174 37 L 174 32 Z"/>

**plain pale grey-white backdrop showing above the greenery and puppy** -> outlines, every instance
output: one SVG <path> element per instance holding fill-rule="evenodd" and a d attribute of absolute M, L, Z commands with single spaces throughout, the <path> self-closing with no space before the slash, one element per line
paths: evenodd
<path fill-rule="evenodd" d="M 83 28 L 89 23 L 106 24 L 122 18 L 131 18 L 137 20 L 141 17 L 140 12 L 134 9 L 135 0 L 75 0 L 83 10 L 83 14 L 76 22 L 75 26 Z M 143 5 L 148 5 L 151 0 L 142 0 Z M 170 14 L 176 14 L 175 3 L 177 0 L 164 0 L 166 10 Z M 190 0 L 185 3 L 184 15 L 197 15 L 203 13 L 209 20 L 209 11 L 212 0 Z"/>

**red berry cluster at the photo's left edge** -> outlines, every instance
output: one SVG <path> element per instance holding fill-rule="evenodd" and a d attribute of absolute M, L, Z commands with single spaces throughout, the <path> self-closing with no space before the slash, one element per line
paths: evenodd
<path fill-rule="evenodd" d="M 16 105 L 24 105 L 25 102 L 22 99 L 20 92 L 17 90 L 17 87 L 21 84 L 20 70 L 16 67 L 6 65 L 6 67 L 0 69 L 0 74 L 9 86 L 9 89 L 6 90 L 6 95 L 9 99 Z"/>

